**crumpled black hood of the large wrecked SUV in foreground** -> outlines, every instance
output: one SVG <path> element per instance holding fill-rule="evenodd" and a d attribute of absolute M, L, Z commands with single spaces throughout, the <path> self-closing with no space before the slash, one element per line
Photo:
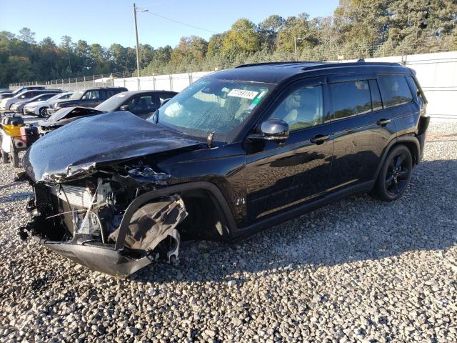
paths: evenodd
<path fill-rule="evenodd" d="M 200 145 L 129 111 L 79 119 L 36 141 L 23 164 L 34 182 L 74 177 L 102 162 Z"/>

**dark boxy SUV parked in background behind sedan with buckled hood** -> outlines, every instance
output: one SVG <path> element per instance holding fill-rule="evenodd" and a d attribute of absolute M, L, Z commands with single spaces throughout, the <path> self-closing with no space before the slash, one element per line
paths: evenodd
<path fill-rule="evenodd" d="M 128 89 L 125 87 L 101 87 L 74 91 L 69 99 L 55 101 L 55 103 L 49 107 L 48 114 L 53 114 L 63 107 L 83 106 L 93 108 L 106 99 L 111 98 L 114 94 L 121 93 L 121 91 L 128 91 Z"/>

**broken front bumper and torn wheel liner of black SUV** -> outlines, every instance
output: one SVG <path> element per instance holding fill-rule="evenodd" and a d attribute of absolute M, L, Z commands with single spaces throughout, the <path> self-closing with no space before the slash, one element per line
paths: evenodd
<path fill-rule="evenodd" d="M 141 197 L 138 200 L 141 201 Z M 187 215 L 184 202 L 178 196 L 141 206 L 134 200 L 118 229 L 111 234 L 114 238 L 109 243 L 107 237 L 92 234 L 76 234 L 72 238 L 66 235 L 59 238 L 62 240 L 53 240 L 52 235 L 59 229 L 64 232 L 63 224 L 56 224 L 53 220 L 58 216 L 37 214 L 34 199 L 27 209 L 35 212 L 35 216 L 25 227 L 19 228 L 21 239 L 27 239 L 30 233 L 44 247 L 84 267 L 115 276 L 133 274 L 159 257 L 176 262 L 181 240 L 176 226 Z M 161 242 L 169 244 L 162 245 Z"/>

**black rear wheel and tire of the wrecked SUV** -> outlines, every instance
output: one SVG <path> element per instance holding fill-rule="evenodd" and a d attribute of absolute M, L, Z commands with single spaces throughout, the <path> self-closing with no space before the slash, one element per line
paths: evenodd
<path fill-rule="evenodd" d="M 373 191 L 384 202 L 392 202 L 405 192 L 412 173 L 411 151 L 404 145 L 395 146 L 384 161 Z"/>

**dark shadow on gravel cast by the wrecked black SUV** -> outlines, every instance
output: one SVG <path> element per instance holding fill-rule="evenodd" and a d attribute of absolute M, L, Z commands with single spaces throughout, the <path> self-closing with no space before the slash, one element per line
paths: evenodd
<path fill-rule="evenodd" d="M 181 264 L 156 264 L 137 282 L 215 281 L 447 249 L 457 242 L 457 160 L 423 161 L 397 202 L 343 199 L 238 244 L 184 242 Z"/>

